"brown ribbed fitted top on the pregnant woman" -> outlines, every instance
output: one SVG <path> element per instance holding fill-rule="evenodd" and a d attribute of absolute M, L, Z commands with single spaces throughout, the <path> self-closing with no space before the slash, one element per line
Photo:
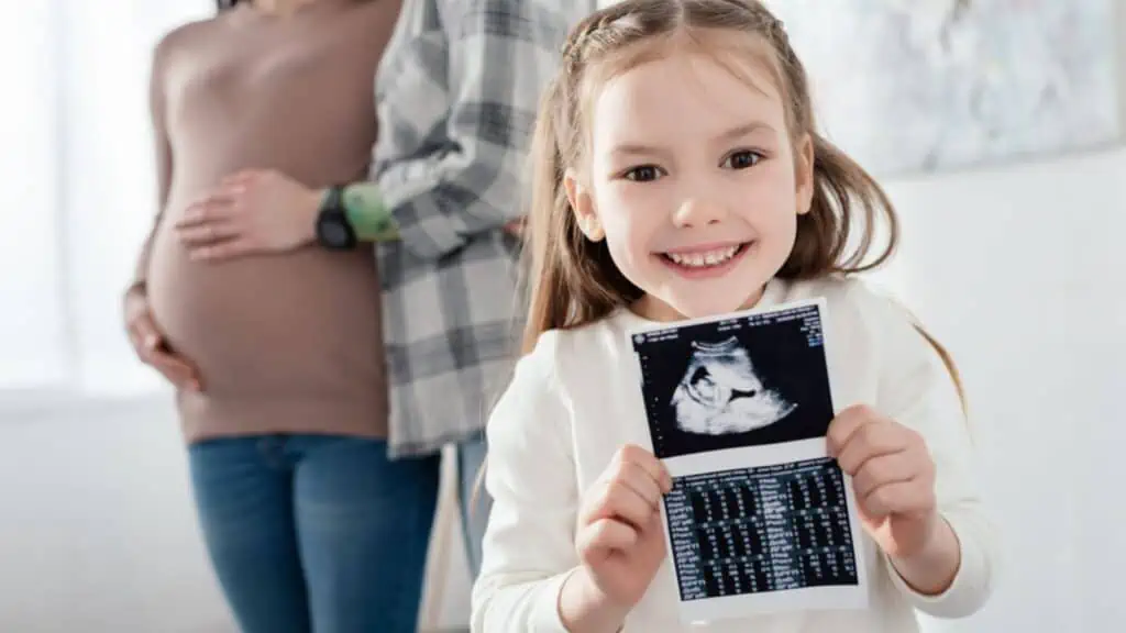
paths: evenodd
<path fill-rule="evenodd" d="M 288 17 L 242 6 L 157 47 L 163 208 L 137 279 L 170 346 L 200 371 L 204 391 L 177 396 L 188 442 L 386 436 L 370 248 L 194 262 L 172 225 L 241 169 L 277 169 L 311 187 L 363 179 L 376 136 L 375 69 L 399 6 L 321 0 Z"/>

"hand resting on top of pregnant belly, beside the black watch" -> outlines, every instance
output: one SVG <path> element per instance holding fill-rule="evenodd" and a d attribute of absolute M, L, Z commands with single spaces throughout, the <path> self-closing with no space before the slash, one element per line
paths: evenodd
<path fill-rule="evenodd" d="M 176 233 L 195 260 L 284 252 L 313 242 L 321 193 L 272 170 L 240 171 L 185 209 Z"/>

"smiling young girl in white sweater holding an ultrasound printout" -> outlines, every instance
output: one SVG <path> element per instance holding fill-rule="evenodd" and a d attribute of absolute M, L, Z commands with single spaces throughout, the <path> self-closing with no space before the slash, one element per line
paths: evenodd
<path fill-rule="evenodd" d="M 526 354 L 489 426 L 474 631 L 688 630 L 626 333 L 808 297 L 828 303 L 828 451 L 851 475 L 870 604 L 692 630 L 900 633 L 914 609 L 982 606 L 994 553 L 953 365 L 850 278 L 891 255 L 895 216 L 815 130 L 754 0 L 631 0 L 577 27 L 538 123 Z"/>

